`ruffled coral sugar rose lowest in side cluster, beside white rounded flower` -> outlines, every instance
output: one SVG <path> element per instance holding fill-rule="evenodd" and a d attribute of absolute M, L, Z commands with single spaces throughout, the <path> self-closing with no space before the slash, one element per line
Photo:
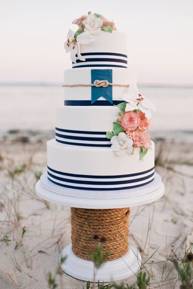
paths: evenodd
<path fill-rule="evenodd" d="M 150 134 L 148 134 L 146 131 L 137 129 L 133 132 L 126 131 L 126 134 L 128 134 L 128 136 L 133 139 L 134 147 L 145 147 L 146 149 L 151 147 Z"/>

